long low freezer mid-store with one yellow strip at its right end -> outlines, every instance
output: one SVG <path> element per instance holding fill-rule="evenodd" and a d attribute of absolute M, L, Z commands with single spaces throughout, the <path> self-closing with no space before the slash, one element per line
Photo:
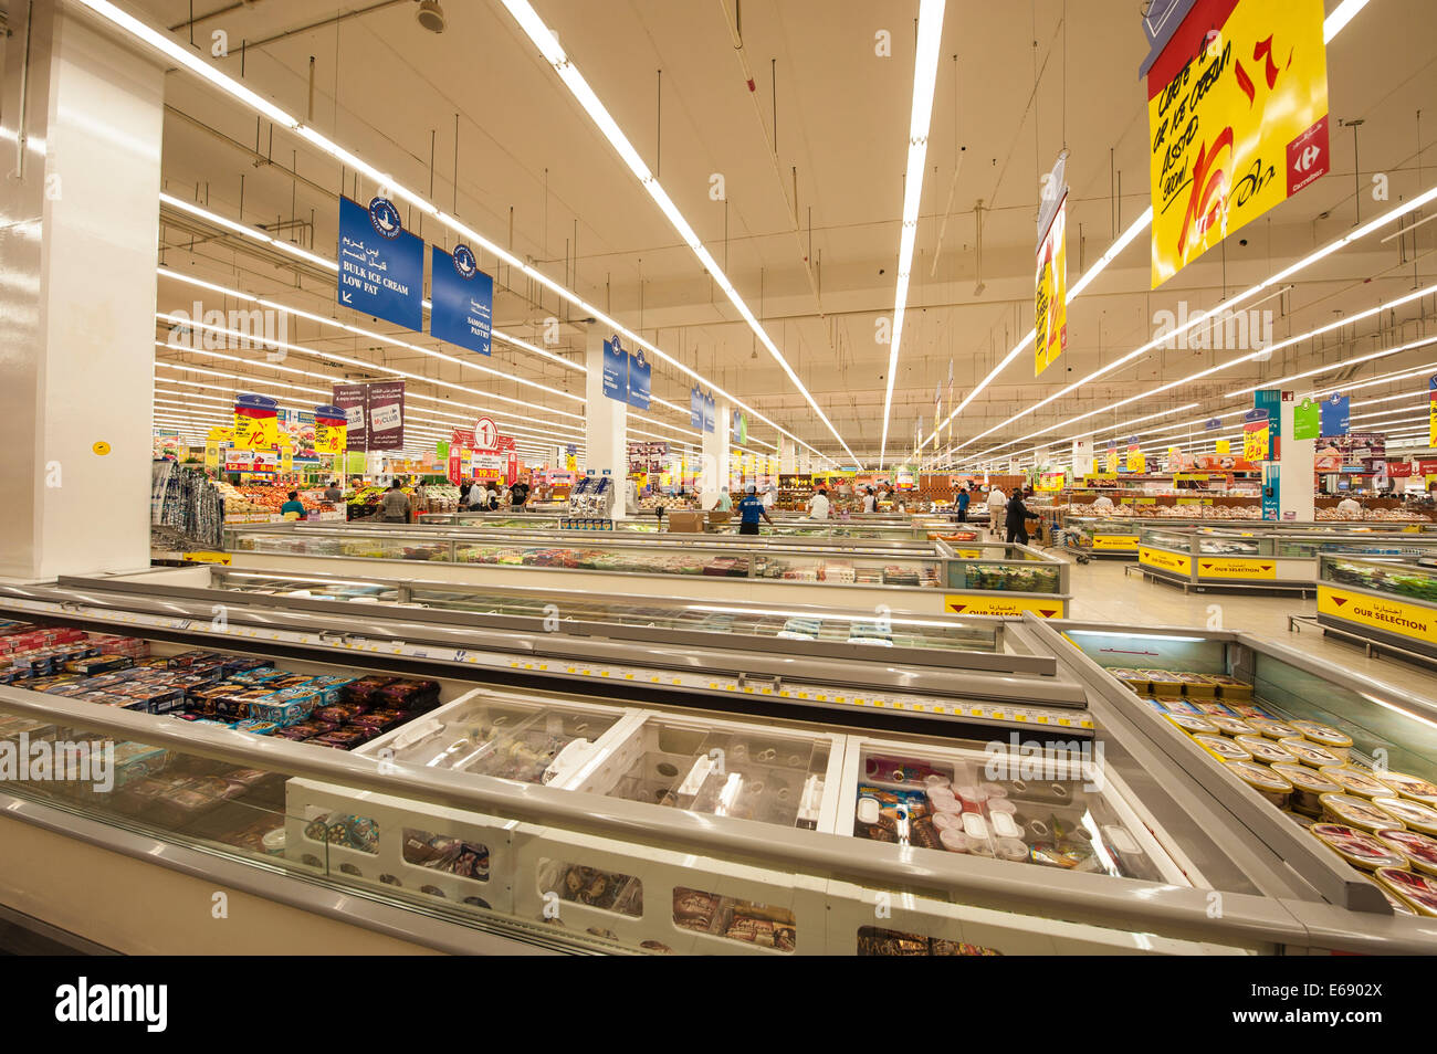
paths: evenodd
<path fill-rule="evenodd" d="M 1068 564 L 1002 543 L 861 541 L 662 534 L 545 538 L 461 527 L 282 524 L 226 534 L 231 564 L 371 574 L 372 561 L 424 563 L 456 584 L 536 584 L 599 593 L 815 603 L 872 610 L 1055 617 L 1066 612 Z M 660 586 L 658 583 L 662 583 Z"/>

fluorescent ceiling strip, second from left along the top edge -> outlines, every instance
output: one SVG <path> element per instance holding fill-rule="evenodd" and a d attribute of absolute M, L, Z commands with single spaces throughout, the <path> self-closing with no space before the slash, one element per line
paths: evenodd
<path fill-rule="evenodd" d="M 604 106 L 604 102 L 593 92 L 589 83 L 583 79 L 583 75 L 579 73 L 579 67 L 565 53 L 555 33 L 545 24 L 543 19 L 539 17 L 539 13 L 535 11 L 535 9 L 527 3 L 527 0 L 502 0 L 502 3 L 504 9 L 513 16 L 514 22 L 519 23 L 519 27 L 525 32 L 525 34 L 535 45 L 539 53 L 543 56 L 545 62 L 553 66 L 555 72 L 559 75 L 559 79 L 565 83 L 565 86 L 569 89 L 569 93 L 573 96 L 575 102 L 578 102 L 579 106 L 583 109 L 583 112 L 588 113 L 589 119 L 593 121 L 599 132 L 604 134 L 604 138 L 609 141 L 609 145 L 614 146 L 614 151 L 619 155 L 619 158 L 624 161 L 628 169 L 639 181 L 639 185 L 642 185 L 644 190 L 648 192 L 648 195 L 654 200 L 654 204 L 658 205 L 660 211 L 664 214 L 664 218 L 667 218 L 670 225 L 678 233 L 678 237 L 684 240 L 684 244 L 688 246 L 690 251 L 698 258 L 698 263 L 704 267 L 706 271 L 708 271 L 708 274 L 713 277 L 718 289 L 723 290 L 724 296 L 729 297 L 729 302 L 734 306 L 734 309 L 737 309 L 739 314 L 749 325 L 749 329 L 752 329 L 753 335 L 759 339 L 759 343 L 762 343 L 764 350 L 767 350 L 769 355 L 773 358 L 773 360 L 779 363 L 779 366 L 783 369 L 783 373 L 789 378 L 789 382 L 803 395 L 803 399 L 809 404 L 809 406 L 812 406 L 813 412 L 818 414 L 819 421 L 822 421 L 823 425 L 828 428 L 828 431 L 833 434 L 833 438 L 838 439 L 838 445 L 842 447 L 845 451 L 848 451 L 848 455 L 856 461 L 858 455 L 855 455 L 854 451 L 849 449 L 848 444 L 844 441 L 844 437 L 839 435 L 838 429 L 833 426 L 833 422 L 829 421 L 828 415 L 823 412 L 823 408 L 818 405 L 818 401 L 813 398 L 813 393 L 809 392 L 808 386 L 799 379 L 799 375 L 793 372 L 793 368 L 789 365 L 789 360 L 783 358 L 783 353 L 779 350 L 777 345 L 773 343 L 767 332 L 754 317 L 753 312 L 749 310 L 749 306 L 744 303 L 743 297 L 739 296 L 739 290 L 734 289 L 733 283 L 729 280 L 729 276 L 726 276 L 723 269 L 718 267 L 718 261 L 714 260 L 713 256 L 708 253 L 708 250 L 704 247 L 704 243 L 694 233 L 694 228 L 688 224 L 688 220 L 684 218 L 684 214 L 678 211 L 678 207 L 664 191 L 664 187 L 658 182 L 658 178 L 655 178 L 654 174 L 648 171 L 648 165 L 644 164 L 644 159 L 639 157 L 638 151 L 634 149 L 634 144 L 628 141 L 628 136 L 624 135 L 624 129 L 619 128 L 618 122 Z M 927 9 L 930 4 L 937 4 L 941 16 L 943 0 L 923 0 L 923 3 L 924 9 Z M 921 33 L 923 29 L 920 16 L 920 39 Z"/>

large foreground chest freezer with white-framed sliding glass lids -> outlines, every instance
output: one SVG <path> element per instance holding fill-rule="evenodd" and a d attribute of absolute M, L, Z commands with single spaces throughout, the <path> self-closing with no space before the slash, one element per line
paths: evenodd
<path fill-rule="evenodd" d="M 456 645 L 502 650 L 523 633 L 500 648 L 499 635 L 422 623 L 417 609 L 320 617 L 303 599 L 292 609 L 236 605 L 217 620 L 213 596 L 122 596 L 96 583 L 9 586 L 0 612 L 122 628 L 157 658 L 201 645 L 310 675 L 424 675 L 444 705 L 343 751 L 0 688 L 0 735 L 131 744 L 135 780 L 174 780 L 193 791 L 184 801 L 223 801 L 190 814 L 142 804 L 162 794 L 7 781 L 0 837 L 43 833 L 68 850 L 0 859 L 0 877 L 26 890 L 23 908 L 39 918 L 63 918 L 91 869 L 57 869 L 93 852 L 145 869 L 135 910 L 112 932 L 142 929 L 135 939 L 151 946 L 178 928 L 145 908 L 171 895 L 172 873 L 188 872 L 441 951 L 1437 949 L 1430 922 L 1351 895 L 1328 857 L 1288 846 L 1280 816 L 1239 819 L 1243 803 L 1224 804 L 1220 773 L 1165 760 L 1134 727 L 1129 711 L 1142 704 L 1125 704 L 1124 688 L 1039 619 L 1006 632 L 1042 642 L 1046 653 L 1027 658 L 1043 669 L 996 676 L 993 663 L 1023 656 L 956 653 L 948 671 L 892 669 L 884 685 L 874 663 L 825 662 L 828 692 L 868 701 L 849 711 L 862 711 L 862 724 L 833 724 L 833 709 L 777 709 L 777 692 L 764 696 L 752 679 L 708 688 L 706 679 L 730 678 L 726 663 L 743 662 L 718 650 L 675 649 L 688 653 L 690 678 L 673 684 L 671 668 L 654 661 L 660 650 L 637 642 L 609 642 L 622 645 L 622 666 L 592 661 L 582 679 L 510 650 L 532 669 L 502 684 L 480 678 L 497 668 Z M 1128 630 L 1119 642 L 1131 649 L 1141 638 Z M 1311 661 L 1306 672 L 1323 686 L 1342 676 Z M 785 686 L 812 691 L 805 676 Z M 639 692 L 655 681 L 661 689 Z M 969 712 L 971 685 L 989 702 L 1006 694 L 1007 717 Z M 749 709 L 718 712 L 726 696 Z M 884 705 L 872 705 L 879 696 Z M 950 715 L 914 727 L 914 704 Z M 894 837 L 864 837 L 858 824 Z M 941 834 L 933 847 L 930 827 L 958 824 L 961 849 Z M 103 882 L 103 869 L 93 872 Z M 888 905 L 878 920 L 877 902 Z"/>

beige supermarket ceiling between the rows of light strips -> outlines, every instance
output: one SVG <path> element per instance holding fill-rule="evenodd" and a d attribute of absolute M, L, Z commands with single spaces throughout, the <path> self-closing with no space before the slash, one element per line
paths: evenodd
<path fill-rule="evenodd" d="M 414 0 L 121 6 L 175 39 L 193 36 L 205 53 L 214 34 L 224 33 L 228 56 L 216 63 L 250 89 L 806 444 L 845 464 L 848 451 L 865 465 L 877 462 L 890 360 L 879 320 L 894 314 L 905 179 L 912 175 L 904 169 L 918 0 L 750 0 L 737 22 L 734 0 L 532 0 L 792 376 L 500 0 L 444 0 L 441 33 L 421 26 Z M 1338 0 L 1325 7 L 1331 13 Z M 911 449 L 920 416 L 931 431 L 935 386 L 948 404 L 950 362 L 956 401 L 967 402 L 951 421 L 951 444 L 944 429 L 943 447 L 957 447 L 960 461 L 977 454 L 1006 460 L 1042 444 L 1058 448 L 1094 428 L 1109 429 L 1099 434 L 1105 442 L 1128 435 L 1128 422 L 1140 416 L 1168 426 L 1196 422 L 1193 438 L 1200 439 L 1206 418 L 1227 415 L 1227 424 L 1250 406 L 1232 392 L 1267 379 L 1332 366 L 1308 382 L 1322 391 L 1437 362 L 1434 343 L 1342 365 L 1431 330 L 1433 296 L 1371 310 L 1437 281 L 1437 224 L 1410 230 L 1437 208 L 1428 205 L 1305 267 L 1280 283 L 1280 293 L 1269 290 L 1246 304 L 1273 313 L 1279 342 L 1368 312 L 1359 320 L 1296 340 L 1265 362 L 1244 360 L 1191 382 L 1184 379 L 1244 353 L 1151 349 L 1065 391 L 1150 342 L 1161 312 L 1211 307 L 1437 185 L 1430 149 L 1437 135 L 1437 53 L 1430 45 L 1437 4 L 1430 0 L 1371 0 L 1328 45 L 1329 174 L 1158 290 L 1150 290 L 1148 233 L 1140 230 L 1072 302 L 1068 352 L 1053 368 L 1035 381 L 1030 349 L 1009 355 L 1032 327 L 1039 178 L 1059 151 L 1069 151 L 1071 284 L 1148 207 L 1147 101 L 1137 76 L 1147 45 L 1138 9 L 1134 0 L 948 0 L 894 378 L 890 462 Z M 875 53 L 881 30 L 891 37 L 887 57 Z M 1387 201 L 1374 200 L 1374 177 L 1385 177 Z M 713 194 L 720 179 L 724 200 Z M 175 70 L 167 80 L 164 190 L 332 260 L 341 190 L 366 201 L 376 187 Z M 491 256 L 480 253 L 480 267 L 496 276 L 496 329 L 530 348 L 496 342 L 493 358 L 480 363 L 427 335 L 336 307 L 333 271 L 318 263 L 178 205 L 167 205 L 162 217 L 161 263 L 170 273 L 338 317 L 366 333 L 292 317 L 296 350 L 285 363 L 247 352 L 218 362 L 157 349 L 157 385 L 167 392 L 158 398 L 184 404 L 174 392 L 198 396 L 201 385 L 223 396 L 254 379 L 322 391 L 326 378 L 372 375 L 378 366 L 431 379 L 411 382 L 411 391 L 427 399 L 420 409 L 433 411 L 435 429 L 484 408 L 536 441 L 582 439 L 583 322 L 555 293 L 496 267 Z M 414 210 L 405 218 L 427 240 L 453 247 L 456 238 L 433 220 Z M 1410 233 L 1388 237 L 1398 230 Z M 165 313 L 195 299 L 208 307 L 216 297 L 178 279 L 160 284 Z M 559 326 L 546 326 L 547 319 Z M 160 320 L 157 339 L 167 330 Z M 300 378 L 296 368 L 310 376 Z M 1171 382 L 1183 383 L 1154 391 Z M 658 363 L 654 393 L 673 408 L 655 402 L 635 422 L 641 435 L 697 441 L 687 426 L 691 383 Z M 1411 392 L 1417 414 L 1424 389 L 1424 378 L 1413 376 L 1364 386 L 1364 401 L 1388 399 L 1372 412 L 1390 418 L 1371 426 L 1405 422 L 1407 401 L 1395 396 Z M 1124 399 L 1132 402 L 1108 408 Z M 1086 414 L 1092 416 L 1081 425 L 1063 425 Z M 776 439 L 763 424 L 752 434 L 760 444 Z"/>

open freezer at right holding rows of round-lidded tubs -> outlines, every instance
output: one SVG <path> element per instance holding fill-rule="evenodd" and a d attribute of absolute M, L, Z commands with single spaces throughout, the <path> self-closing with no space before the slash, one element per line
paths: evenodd
<path fill-rule="evenodd" d="M 1035 632 L 1061 633 L 1122 685 L 1115 719 L 1229 811 L 1276 821 L 1267 843 L 1328 903 L 1437 919 L 1437 702 L 1243 633 Z"/>

